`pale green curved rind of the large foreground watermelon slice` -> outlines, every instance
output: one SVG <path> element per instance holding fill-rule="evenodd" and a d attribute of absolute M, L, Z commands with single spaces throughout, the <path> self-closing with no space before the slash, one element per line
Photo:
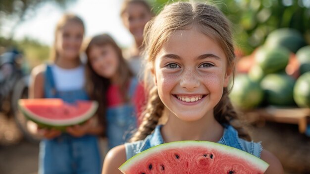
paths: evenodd
<path fill-rule="evenodd" d="M 265 161 L 261 160 L 260 158 L 247 153 L 245 151 L 239 150 L 234 147 L 226 146 L 219 143 L 209 142 L 209 141 L 174 141 L 170 143 L 164 143 L 160 144 L 154 147 L 151 147 L 133 157 L 131 157 L 129 160 L 127 160 L 124 164 L 122 164 L 118 169 L 121 172 L 125 172 L 128 169 L 130 169 L 134 164 L 141 161 L 141 159 L 144 159 L 147 156 L 151 156 L 153 154 L 156 154 L 160 150 L 168 150 L 168 149 L 174 149 L 174 148 L 182 148 L 182 147 L 204 147 L 207 149 L 214 149 L 218 151 L 223 151 L 225 154 L 239 157 L 240 159 L 246 159 L 250 164 L 254 165 L 259 169 L 260 171 L 266 171 L 269 167 L 269 164 Z"/>

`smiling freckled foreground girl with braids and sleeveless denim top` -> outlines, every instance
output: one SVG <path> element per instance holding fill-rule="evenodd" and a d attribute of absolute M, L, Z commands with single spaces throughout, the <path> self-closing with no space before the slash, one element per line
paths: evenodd
<path fill-rule="evenodd" d="M 145 30 L 150 94 L 144 121 L 131 143 L 110 150 L 103 174 L 159 144 L 204 140 L 235 147 L 270 164 L 266 174 L 282 174 L 279 160 L 240 127 L 228 98 L 234 48 L 229 21 L 214 6 L 176 2 L 167 5 Z M 145 74 L 148 78 L 148 74 Z M 163 110 L 168 120 L 158 124 Z"/>

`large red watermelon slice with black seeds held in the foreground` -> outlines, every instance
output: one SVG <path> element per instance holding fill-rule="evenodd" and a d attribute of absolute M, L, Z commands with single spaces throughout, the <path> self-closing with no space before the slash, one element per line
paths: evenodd
<path fill-rule="evenodd" d="M 145 150 L 119 170 L 124 174 L 263 174 L 268 164 L 242 150 L 208 141 L 176 141 Z"/>

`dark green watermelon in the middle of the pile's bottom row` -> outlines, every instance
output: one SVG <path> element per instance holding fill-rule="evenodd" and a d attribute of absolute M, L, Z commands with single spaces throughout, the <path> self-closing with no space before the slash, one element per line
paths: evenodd
<path fill-rule="evenodd" d="M 285 74 L 268 74 L 260 82 L 269 105 L 292 106 L 294 105 L 293 88 L 295 80 Z"/>

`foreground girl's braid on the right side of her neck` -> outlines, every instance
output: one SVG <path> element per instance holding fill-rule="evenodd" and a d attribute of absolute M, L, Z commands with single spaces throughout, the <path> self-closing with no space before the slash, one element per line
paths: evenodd
<path fill-rule="evenodd" d="M 220 102 L 214 108 L 215 119 L 221 124 L 226 123 L 232 125 L 238 131 L 239 137 L 245 140 L 251 140 L 251 137 L 245 128 L 246 123 L 241 121 L 238 113 L 230 102 L 228 94 L 228 89 L 226 87 L 224 88 Z"/>

